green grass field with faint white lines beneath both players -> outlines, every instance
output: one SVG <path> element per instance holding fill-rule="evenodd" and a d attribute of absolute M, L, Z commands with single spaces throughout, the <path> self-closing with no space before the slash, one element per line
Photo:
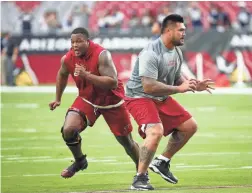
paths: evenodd
<path fill-rule="evenodd" d="M 48 103 L 54 99 L 55 87 L 37 87 L 47 90 L 45 93 L 36 93 L 34 88 L 13 87 L 14 92 L 1 87 L 2 192 L 135 193 L 128 190 L 135 175 L 134 165 L 103 118 L 82 133 L 88 169 L 72 179 L 60 177 L 72 159 L 61 139 L 60 127 L 76 91 L 68 87 L 61 106 L 51 112 Z M 178 184 L 168 184 L 149 172 L 156 188 L 153 193 L 252 192 L 252 96 L 248 90 L 244 94 L 223 95 L 216 90 L 213 95 L 174 96 L 193 114 L 199 130 L 172 160 Z M 141 144 L 137 126 L 132 123 L 133 137 Z M 167 138 L 163 138 L 157 155 L 166 143 Z"/>

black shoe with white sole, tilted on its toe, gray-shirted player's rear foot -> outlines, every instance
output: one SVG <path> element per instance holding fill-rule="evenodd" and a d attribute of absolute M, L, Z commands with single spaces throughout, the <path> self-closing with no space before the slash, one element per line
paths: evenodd
<path fill-rule="evenodd" d="M 177 184 L 178 179 L 170 171 L 170 161 L 166 162 L 164 160 L 158 159 L 157 157 L 151 162 L 149 168 L 159 174 L 167 182 Z"/>

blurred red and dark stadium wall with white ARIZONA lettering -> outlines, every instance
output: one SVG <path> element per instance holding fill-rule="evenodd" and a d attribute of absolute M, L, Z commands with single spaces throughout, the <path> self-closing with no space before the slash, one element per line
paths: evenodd
<path fill-rule="evenodd" d="M 129 78 L 137 54 L 151 41 L 150 34 L 92 37 L 94 42 L 111 51 L 119 77 L 123 81 Z M 69 36 L 15 38 L 20 50 L 17 66 L 22 68 L 24 63 L 30 66 L 40 84 L 55 83 L 60 58 L 70 48 Z M 183 72 L 189 77 L 211 78 L 217 86 L 230 86 L 238 79 L 249 83 L 252 81 L 252 34 L 237 34 L 232 31 L 189 32 L 182 50 Z M 242 71 L 239 72 L 238 69 Z"/>

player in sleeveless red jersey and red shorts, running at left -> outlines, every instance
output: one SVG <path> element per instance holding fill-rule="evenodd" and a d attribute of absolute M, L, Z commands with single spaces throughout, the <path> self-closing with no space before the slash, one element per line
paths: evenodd
<path fill-rule="evenodd" d="M 61 132 L 75 162 L 63 170 L 61 176 L 70 178 L 87 168 L 80 133 L 87 126 L 92 127 L 100 115 L 103 115 L 111 132 L 137 167 L 139 148 L 131 136 L 132 125 L 123 100 L 122 81 L 117 78 L 110 52 L 89 40 L 89 33 L 84 28 L 76 28 L 71 33 L 71 49 L 61 58 L 56 98 L 49 104 L 50 110 L 61 104 L 69 74 L 76 83 L 79 95 L 66 113 Z"/>

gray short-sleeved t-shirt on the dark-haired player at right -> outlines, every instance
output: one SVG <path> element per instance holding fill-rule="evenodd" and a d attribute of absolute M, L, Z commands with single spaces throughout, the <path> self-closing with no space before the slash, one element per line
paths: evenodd
<path fill-rule="evenodd" d="M 126 84 L 126 96 L 165 100 L 168 96 L 157 97 L 146 94 L 141 77 L 149 77 L 167 85 L 174 85 L 180 78 L 182 60 L 182 52 L 179 48 L 167 49 L 161 38 L 150 42 L 137 57 L 131 77 Z"/>

